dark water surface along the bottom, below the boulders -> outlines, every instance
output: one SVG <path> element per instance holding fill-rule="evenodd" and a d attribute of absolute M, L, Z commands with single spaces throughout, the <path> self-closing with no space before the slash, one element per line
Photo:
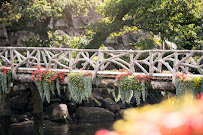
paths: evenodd
<path fill-rule="evenodd" d="M 44 128 L 45 135 L 94 135 L 99 129 L 112 129 L 113 122 L 80 123 L 71 125 L 48 125 Z M 32 128 L 15 128 L 12 135 L 33 135 Z"/>

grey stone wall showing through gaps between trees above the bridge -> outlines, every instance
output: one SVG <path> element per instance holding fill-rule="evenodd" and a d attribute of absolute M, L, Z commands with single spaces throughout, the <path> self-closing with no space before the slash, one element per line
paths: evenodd
<path fill-rule="evenodd" d="M 101 19 L 101 15 L 98 15 L 93 9 L 90 9 L 87 16 L 64 15 L 63 18 L 57 20 L 51 18 L 48 27 L 56 29 L 59 35 L 67 34 L 71 37 L 81 36 L 87 34 L 83 26 L 88 26 Z M 26 26 L 32 27 L 33 24 L 28 22 Z M 117 36 L 111 39 L 107 38 L 105 45 L 108 49 L 133 49 L 133 46 L 130 45 L 130 40 L 139 42 L 141 39 L 146 39 L 151 36 L 150 33 L 142 31 L 137 31 L 136 33 L 128 32 L 122 36 Z M 38 36 L 25 30 L 6 29 L 5 26 L 0 24 L 0 46 L 21 46 L 22 41 L 27 41 L 29 38 L 33 37 Z"/>

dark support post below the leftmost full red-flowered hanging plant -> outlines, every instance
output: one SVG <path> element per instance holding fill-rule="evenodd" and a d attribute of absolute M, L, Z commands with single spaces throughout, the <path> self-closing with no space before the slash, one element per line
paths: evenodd
<path fill-rule="evenodd" d="M 43 101 L 39 95 L 39 91 L 35 86 L 32 86 L 32 102 L 33 102 L 33 116 L 34 116 L 34 134 L 44 135 Z"/>

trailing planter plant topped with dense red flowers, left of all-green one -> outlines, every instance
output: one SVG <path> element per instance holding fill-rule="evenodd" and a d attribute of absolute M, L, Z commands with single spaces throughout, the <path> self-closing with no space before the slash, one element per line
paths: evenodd
<path fill-rule="evenodd" d="M 62 84 L 65 75 L 63 72 L 54 72 L 49 70 L 36 70 L 32 73 L 32 80 L 37 86 L 41 99 L 50 102 L 50 93 L 55 95 L 55 87 L 60 95 L 60 84 Z"/>

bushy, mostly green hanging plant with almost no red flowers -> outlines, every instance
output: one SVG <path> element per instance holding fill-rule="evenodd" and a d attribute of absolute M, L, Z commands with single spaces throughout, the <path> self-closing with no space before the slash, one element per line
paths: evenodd
<path fill-rule="evenodd" d="M 68 75 L 68 90 L 70 96 L 76 102 L 81 103 L 82 100 L 88 99 L 92 93 L 92 74 L 70 73 Z"/>

